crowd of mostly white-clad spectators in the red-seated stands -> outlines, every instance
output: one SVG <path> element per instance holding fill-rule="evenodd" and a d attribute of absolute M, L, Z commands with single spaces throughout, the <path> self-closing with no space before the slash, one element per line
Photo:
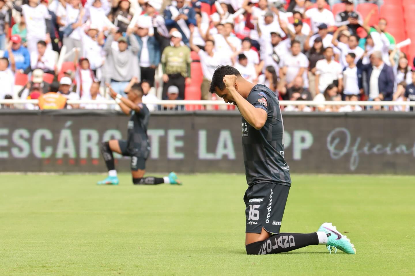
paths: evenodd
<path fill-rule="evenodd" d="M 0 98 L 39 99 L 41 109 L 105 109 L 99 103 L 67 105 L 66 99 L 105 99 L 105 83 L 125 94 L 141 82 L 144 102 L 210 100 L 210 81 L 222 64 L 267 85 L 279 99 L 322 102 L 321 111 L 361 110 L 325 101 L 415 100 L 413 63 L 386 31 L 388 21 L 378 15 L 382 4 L 0 0 Z M 149 109 L 160 108 L 181 107 Z"/>

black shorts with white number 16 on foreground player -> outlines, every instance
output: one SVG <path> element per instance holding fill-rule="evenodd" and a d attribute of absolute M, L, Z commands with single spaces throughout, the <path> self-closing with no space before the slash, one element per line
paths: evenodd
<path fill-rule="evenodd" d="M 278 234 L 283 220 L 290 187 L 278 183 L 259 183 L 248 187 L 244 201 L 247 208 L 246 233 L 267 232 Z"/>

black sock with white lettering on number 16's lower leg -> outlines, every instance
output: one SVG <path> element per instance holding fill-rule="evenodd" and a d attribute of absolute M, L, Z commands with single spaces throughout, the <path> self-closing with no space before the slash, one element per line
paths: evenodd
<path fill-rule="evenodd" d="M 261 242 L 246 245 L 247 254 L 276 254 L 288 252 L 309 245 L 318 245 L 317 233 L 280 233 Z"/>

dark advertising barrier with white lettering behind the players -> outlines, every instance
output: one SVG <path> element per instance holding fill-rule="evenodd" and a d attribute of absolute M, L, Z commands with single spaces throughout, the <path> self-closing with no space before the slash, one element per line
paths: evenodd
<path fill-rule="evenodd" d="M 415 174 L 412 112 L 283 113 L 293 173 Z M 115 111 L 0 110 L 1 172 L 104 172 L 100 143 L 126 137 Z M 151 115 L 151 172 L 244 172 L 237 111 Z M 129 159 L 116 155 L 121 171 Z"/>

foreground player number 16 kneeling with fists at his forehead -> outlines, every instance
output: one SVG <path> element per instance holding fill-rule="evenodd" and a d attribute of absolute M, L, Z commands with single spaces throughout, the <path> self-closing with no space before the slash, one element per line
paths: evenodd
<path fill-rule="evenodd" d="M 348 254 L 356 250 L 331 223 L 317 232 L 280 233 L 291 187 L 289 166 L 284 159 L 284 125 L 278 98 L 264 85 L 245 80 L 235 68 L 219 66 L 210 92 L 235 104 L 242 115 L 242 149 L 248 189 L 245 192 L 247 254 L 275 254 L 309 245 L 326 245 Z"/>

